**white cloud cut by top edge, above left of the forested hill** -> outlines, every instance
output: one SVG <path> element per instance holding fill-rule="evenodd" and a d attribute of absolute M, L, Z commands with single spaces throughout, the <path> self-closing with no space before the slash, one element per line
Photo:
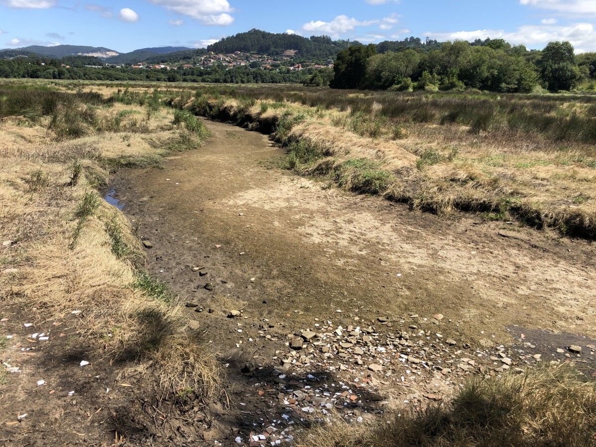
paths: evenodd
<path fill-rule="evenodd" d="M 228 0 L 148 0 L 169 11 L 188 15 L 206 25 L 226 26 L 234 21 Z"/>

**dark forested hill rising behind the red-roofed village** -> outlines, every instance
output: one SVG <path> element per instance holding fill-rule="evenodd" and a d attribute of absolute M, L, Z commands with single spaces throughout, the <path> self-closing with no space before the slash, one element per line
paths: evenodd
<path fill-rule="evenodd" d="M 352 42 L 353 44 L 359 42 Z M 349 45 L 349 41 L 333 41 L 328 36 L 305 38 L 296 34 L 268 33 L 252 29 L 209 45 L 207 51 L 223 54 L 241 51 L 278 55 L 287 49 L 295 49 L 300 59 L 321 59 L 336 57 L 340 50 Z"/>

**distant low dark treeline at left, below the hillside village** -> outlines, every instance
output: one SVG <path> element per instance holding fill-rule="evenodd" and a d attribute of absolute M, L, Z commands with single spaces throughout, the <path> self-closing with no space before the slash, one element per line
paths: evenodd
<path fill-rule="evenodd" d="M 278 70 L 252 70 L 250 67 L 227 69 L 216 65 L 209 69 L 193 67 L 178 70 L 145 70 L 132 67 L 101 68 L 86 65 L 101 65 L 94 57 L 70 56 L 63 59 L 20 57 L 11 60 L 0 59 L 0 77 L 29 77 L 32 79 L 82 79 L 82 80 L 150 80 L 163 82 L 213 82 L 213 83 L 307 83 L 311 82 L 314 69 L 300 72 L 287 67 Z M 70 67 L 65 67 L 67 65 Z M 330 70 L 328 70 L 330 72 Z M 311 85 L 328 85 L 330 73 L 325 73 L 323 82 Z"/>

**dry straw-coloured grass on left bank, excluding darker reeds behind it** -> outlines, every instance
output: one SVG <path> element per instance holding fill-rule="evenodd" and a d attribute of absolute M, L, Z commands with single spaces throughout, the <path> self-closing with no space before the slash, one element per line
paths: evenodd
<path fill-rule="evenodd" d="M 171 116 L 154 117 L 153 138 L 171 135 L 163 130 Z M 176 297 L 142 274 L 138 238 L 95 189 L 107 180 L 110 160 L 163 151 L 120 132 L 57 142 L 33 129 L 0 123 L 0 135 L 14 137 L 0 148 L 0 239 L 15 242 L 2 250 L 0 271 L 12 272 L 0 273 L 5 305 L 67 322 L 76 348 L 98 358 L 146 361 L 172 391 L 213 392 L 215 360 L 185 330 Z"/>

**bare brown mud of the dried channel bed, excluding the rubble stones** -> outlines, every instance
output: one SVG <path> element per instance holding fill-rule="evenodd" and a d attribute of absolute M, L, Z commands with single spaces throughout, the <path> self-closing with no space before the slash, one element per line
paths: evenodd
<path fill-rule="evenodd" d="M 246 380 L 257 380 L 267 365 L 270 373 L 274 368 L 270 375 L 284 371 L 275 365 L 284 366 L 288 350 L 286 365 L 308 365 L 300 357 L 305 349 L 287 346 L 305 329 L 331 337 L 338 325 L 352 325 L 358 340 L 356 326 L 376 324 L 374 337 L 414 331 L 423 342 L 436 340 L 429 346 L 448 352 L 448 361 L 462 356 L 439 343 L 452 339 L 470 358 L 493 360 L 498 371 L 502 364 L 488 350 L 523 342 L 522 330 L 515 330 L 514 339 L 507 327 L 596 336 L 592 244 L 473 215 L 439 218 L 326 189 L 266 167 L 283 152 L 265 136 L 206 124 L 213 137 L 200 150 L 170 157 L 164 170 L 121 171 L 111 187 L 139 235 L 153 244 L 147 251 L 151 274 L 195 306 L 190 318 L 220 358 L 234 359 L 252 377 Z M 226 318 L 231 310 L 243 315 Z M 433 318 L 439 313 L 444 318 Z M 398 339 L 402 347 L 411 346 L 403 333 Z M 342 359 L 353 363 L 352 347 L 342 348 L 334 358 L 337 374 Z M 428 349 L 424 354 L 420 347 L 420 355 L 432 358 Z M 582 355 L 589 357 L 587 351 Z M 564 359 L 554 349 L 551 355 Z M 246 362 L 261 365 L 256 375 Z M 324 362 L 314 364 L 323 369 Z M 367 365 L 365 359 L 362 368 Z M 441 375 L 432 361 L 428 365 L 435 374 L 430 379 Z M 347 371 L 367 377 L 352 367 Z"/>

